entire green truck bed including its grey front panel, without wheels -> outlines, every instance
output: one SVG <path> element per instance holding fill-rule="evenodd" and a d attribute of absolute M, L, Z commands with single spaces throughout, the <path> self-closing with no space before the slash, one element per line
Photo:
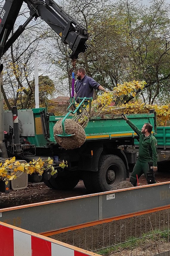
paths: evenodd
<path fill-rule="evenodd" d="M 34 108 L 29 110 L 18 110 L 18 119 L 22 124 L 21 136 L 27 137 L 27 140 L 34 144 L 36 147 L 49 147 L 50 143 L 56 143 L 53 135 L 53 126 L 55 123 L 64 116 L 49 116 L 48 124 L 45 129 L 50 136 L 44 136 L 44 129 L 42 125 L 42 111 L 44 108 Z M 12 126 L 12 114 L 10 111 L 5 111 L 5 130 Z M 155 116 L 154 113 L 148 114 L 129 114 L 127 117 L 142 128 L 143 124 L 149 122 L 155 129 Z M 69 116 L 71 118 L 71 116 Z M 154 131 L 156 131 L 154 129 Z M 124 137 L 135 137 L 135 132 L 130 126 L 121 118 L 120 115 L 103 115 L 96 119 L 90 119 L 87 127 L 85 128 L 86 140 L 108 140 Z"/>

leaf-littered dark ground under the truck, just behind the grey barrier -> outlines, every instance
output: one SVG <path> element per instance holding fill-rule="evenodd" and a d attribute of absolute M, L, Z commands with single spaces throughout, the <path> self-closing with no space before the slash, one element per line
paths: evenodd
<path fill-rule="evenodd" d="M 170 171 L 156 172 L 155 179 L 157 182 L 170 181 Z M 127 179 L 129 181 L 129 179 Z M 146 185 L 146 179 L 142 175 L 139 179 L 140 185 Z M 120 187 L 119 187 L 120 188 Z M 121 187 L 123 188 L 123 187 Z M 24 190 L 10 191 L 10 194 L 0 194 L 0 208 L 14 207 L 18 205 L 27 205 L 37 202 L 44 202 L 56 199 L 62 199 L 73 196 L 81 196 L 88 194 L 88 191 L 84 187 L 83 181 L 79 181 L 77 186 L 73 190 L 53 190 L 40 184 L 28 184 L 28 187 Z"/>

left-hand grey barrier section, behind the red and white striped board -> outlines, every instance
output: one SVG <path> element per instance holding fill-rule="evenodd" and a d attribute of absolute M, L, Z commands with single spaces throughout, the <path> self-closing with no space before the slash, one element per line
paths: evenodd
<path fill-rule="evenodd" d="M 41 233 L 98 220 L 98 197 L 2 212 L 0 221 Z"/>

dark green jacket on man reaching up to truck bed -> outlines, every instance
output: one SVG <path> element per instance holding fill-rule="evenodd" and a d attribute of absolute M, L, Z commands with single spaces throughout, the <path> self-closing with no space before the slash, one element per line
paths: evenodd
<path fill-rule="evenodd" d="M 141 130 L 136 127 L 129 119 L 127 124 L 139 136 L 139 156 L 138 159 L 142 162 L 153 162 L 153 166 L 157 166 L 157 140 L 152 133 L 145 137 Z"/>

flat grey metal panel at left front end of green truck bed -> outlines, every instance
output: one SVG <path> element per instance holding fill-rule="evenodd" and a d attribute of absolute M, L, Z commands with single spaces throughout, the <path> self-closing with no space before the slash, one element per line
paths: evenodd
<path fill-rule="evenodd" d="M 18 110 L 18 125 L 21 136 L 35 136 L 33 110 Z M 11 111 L 4 111 L 4 130 L 9 132 L 9 126 L 13 127 Z"/>

